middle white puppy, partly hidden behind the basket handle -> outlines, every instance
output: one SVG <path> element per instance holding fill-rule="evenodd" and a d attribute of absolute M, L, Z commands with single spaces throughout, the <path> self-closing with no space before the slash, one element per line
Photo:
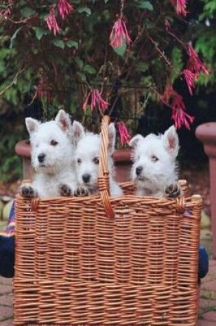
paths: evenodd
<path fill-rule="evenodd" d="M 77 183 L 79 187 L 87 187 L 91 194 L 98 193 L 98 174 L 99 174 L 99 152 L 100 136 L 92 132 L 85 132 L 82 124 L 73 122 L 73 135 L 76 143 L 75 167 Z M 108 172 L 110 181 L 110 195 L 117 196 L 123 194 L 121 187 L 114 180 L 114 166 L 112 153 L 115 149 L 115 126 L 110 124 L 108 128 Z M 89 181 L 84 182 L 84 175 L 89 176 Z"/>

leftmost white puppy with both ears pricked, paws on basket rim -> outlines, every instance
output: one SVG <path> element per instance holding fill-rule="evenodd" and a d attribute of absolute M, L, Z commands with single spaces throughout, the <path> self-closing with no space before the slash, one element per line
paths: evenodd
<path fill-rule="evenodd" d="M 64 187 L 75 191 L 73 168 L 72 126 L 69 115 L 60 110 L 55 120 L 40 123 L 30 117 L 25 119 L 32 148 L 34 181 L 21 186 L 25 197 L 53 197 L 64 195 Z"/>

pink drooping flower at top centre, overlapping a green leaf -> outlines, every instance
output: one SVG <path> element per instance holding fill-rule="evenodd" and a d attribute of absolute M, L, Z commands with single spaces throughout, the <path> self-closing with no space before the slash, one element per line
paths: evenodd
<path fill-rule="evenodd" d="M 117 19 L 110 33 L 110 45 L 112 47 L 121 47 L 124 43 L 130 45 L 130 36 L 122 18 Z"/>

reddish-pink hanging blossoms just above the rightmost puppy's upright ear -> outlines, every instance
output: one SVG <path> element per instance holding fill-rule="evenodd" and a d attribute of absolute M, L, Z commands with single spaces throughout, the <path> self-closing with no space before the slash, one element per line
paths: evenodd
<path fill-rule="evenodd" d="M 172 110 L 171 118 L 174 121 L 176 129 L 181 126 L 190 129 L 194 117 L 191 117 L 185 112 L 185 104 L 182 95 L 173 90 L 173 86 L 168 84 L 163 95 L 160 95 L 160 100 L 169 106 Z"/>

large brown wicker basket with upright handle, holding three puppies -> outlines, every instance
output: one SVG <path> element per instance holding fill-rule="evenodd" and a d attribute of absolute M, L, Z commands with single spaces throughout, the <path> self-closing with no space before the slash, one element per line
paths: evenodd
<path fill-rule="evenodd" d="M 99 195 L 16 197 L 14 325 L 194 326 L 202 199 L 108 196 L 101 134 Z"/>

